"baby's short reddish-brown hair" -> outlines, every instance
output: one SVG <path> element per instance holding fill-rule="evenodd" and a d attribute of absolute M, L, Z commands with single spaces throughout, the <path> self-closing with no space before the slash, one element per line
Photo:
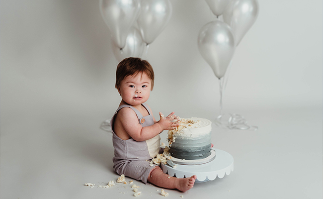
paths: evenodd
<path fill-rule="evenodd" d="M 139 57 L 129 57 L 122 60 L 117 66 L 115 88 L 120 87 L 121 81 L 129 75 L 146 74 L 152 81 L 152 90 L 154 88 L 154 70 L 152 65 Z"/>

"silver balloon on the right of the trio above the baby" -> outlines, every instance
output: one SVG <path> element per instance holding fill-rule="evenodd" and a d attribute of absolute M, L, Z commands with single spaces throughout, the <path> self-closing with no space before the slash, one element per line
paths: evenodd
<path fill-rule="evenodd" d="M 166 27 L 172 12 L 169 0 L 142 0 L 137 19 L 139 29 L 147 44 L 152 43 Z"/>

